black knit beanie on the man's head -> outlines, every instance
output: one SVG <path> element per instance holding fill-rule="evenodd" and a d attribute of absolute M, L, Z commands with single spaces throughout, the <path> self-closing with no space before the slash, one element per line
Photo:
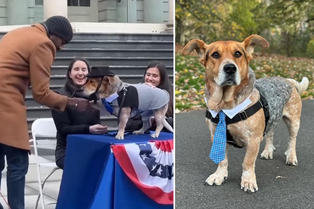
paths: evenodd
<path fill-rule="evenodd" d="M 63 16 L 52 16 L 46 20 L 46 25 L 51 35 L 56 35 L 68 44 L 73 37 L 73 30 L 70 21 Z"/>

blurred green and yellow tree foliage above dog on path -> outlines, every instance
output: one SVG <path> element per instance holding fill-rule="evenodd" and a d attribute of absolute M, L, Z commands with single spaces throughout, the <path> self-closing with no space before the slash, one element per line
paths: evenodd
<path fill-rule="evenodd" d="M 267 53 L 312 56 L 314 0 L 176 0 L 176 43 L 242 42 L 252 34 L 269 41 Z"/>

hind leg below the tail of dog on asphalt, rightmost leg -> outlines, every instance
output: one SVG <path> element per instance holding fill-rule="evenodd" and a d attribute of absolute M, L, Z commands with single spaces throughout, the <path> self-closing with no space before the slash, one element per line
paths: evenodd
<path fill-rule="evenodd" d="M 286 164 L 290 166 L 296 166 L 298 160 L 295 152 L 296 136 L 300 128 L 300 117 L 301 117 L 302 102 L 296 89 L 292 91 L 290 100 L 284 107 L 283 119 L 288 127 L 289 138 L 288 138 L 288 149 L 284 153 L 286 157 Z"/>

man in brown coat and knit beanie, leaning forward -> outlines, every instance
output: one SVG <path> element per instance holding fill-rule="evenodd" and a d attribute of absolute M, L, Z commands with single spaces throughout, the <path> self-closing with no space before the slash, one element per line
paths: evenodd
<path fill-rule="evenodd" d="M 53 16 L 41 24 L 14 29 L 0 41 L 0 179 L 6 156 L 8 204 L 24 209 L 25 174 L 30 143 L 24 102 L 31 86 L 35 101 L 57 111 L 67 105 L 78 110 L 89 101 L 68 98 L 49 89 L 50 69 L 56 50 L 73 37 L 68 19 Z M 3 209 L 0 204 L 0 209 Z"/>

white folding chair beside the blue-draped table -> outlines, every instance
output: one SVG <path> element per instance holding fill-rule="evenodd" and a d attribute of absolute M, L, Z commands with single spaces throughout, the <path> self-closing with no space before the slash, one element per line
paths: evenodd
<path fill-rule="evenodd" d="M 56 163 L 39 163 L 38 152 L 37 152 L 37 143 L 36 137 L 56 137 L 57 129 L 55 123 L 52 118 L 39 118 L 35 120 L 32 124 L 32 135 L 33 135 L 33 143 L 35 156 L 37 158 L 37 175 L 38 175 L 38 183 L 39 183 L 39 194 L 35 203 L 35 209 L 38 207 L 38 202 L 41 196 L 41 205 L 42 209 L 45 209 L 45 205 L 56 204 L 57 202 L 45 202 L 43 195 L 43 188 L 46 180 L 51 176 L 53 172 L 60 169 Z M 41 173 L 40 167 L 49 167 L 52 168 L 51 172 L 45 177 L 45 179 L 41 182 Z"/>

